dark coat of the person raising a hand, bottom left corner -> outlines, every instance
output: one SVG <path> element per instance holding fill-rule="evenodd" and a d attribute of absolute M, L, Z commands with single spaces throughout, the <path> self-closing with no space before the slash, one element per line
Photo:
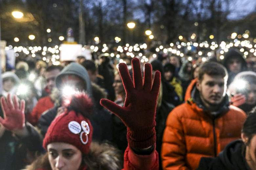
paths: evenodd
<path fill-rule="evenodd" d="M 30 164 L 34 156 L 43 153 L 39 132 L 27 126 L 30 136 L 18 138 L 11 131 L 5 130 L 0 137 L 0 169 L 19 170 Z"/>

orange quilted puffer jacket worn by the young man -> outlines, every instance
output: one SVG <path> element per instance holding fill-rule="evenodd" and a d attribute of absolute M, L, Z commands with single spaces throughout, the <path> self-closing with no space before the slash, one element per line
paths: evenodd
<path fill-rule="evenodd" d="M 214 118 L 191 97 L 192 89 L 197 90 L 196 81 L 187 88 L 186 103 L 168 115 L 161 150 L 164 170 L 196 169 L 201 157 L 215 157 L 229 142 L 241 137 L 244 111 L 233 105 L 228 107 L 226 97 L 227 109 Z"/>

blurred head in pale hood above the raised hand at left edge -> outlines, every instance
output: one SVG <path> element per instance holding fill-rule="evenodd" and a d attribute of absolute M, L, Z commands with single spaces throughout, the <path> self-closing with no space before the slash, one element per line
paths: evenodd
<path fill-rule="evenodd" d="M 7 97 L 8 93 L 10 93 L 11 95 L 16 94 L 17 86 L 20 83 L 20 79 L 18 78 L 18 76 L 11 71 L 6 71 L 2 74 L 2 79 L 3 79 L 2 95 Z"/>

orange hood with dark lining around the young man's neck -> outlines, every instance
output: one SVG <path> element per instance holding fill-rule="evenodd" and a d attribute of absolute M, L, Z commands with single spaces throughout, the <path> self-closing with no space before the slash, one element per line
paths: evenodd
<path fill-rule="evenodd" d="M 190 85 L 188 86 L 185 94 L 185 102 L 189 103 L 194 109 L 202 109 L 204 111 L 207 111 L 207 108 L 204 106 L 202 100 L 200 99 L 199 91 L 196 88 L 197 80 L 198 78 L 192 80 Z M 229 110 L 229 101 L 229 96 L 226 93 L 223 101 L 220 104 L 220 109 L 213 115 L 214 118 L 221 116 Z"/>

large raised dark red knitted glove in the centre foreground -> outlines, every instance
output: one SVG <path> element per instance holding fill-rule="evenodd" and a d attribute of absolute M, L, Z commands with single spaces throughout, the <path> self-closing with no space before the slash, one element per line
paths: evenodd
<path fill-rule="evenodd" d="M 156 142 L 155 114 L 158 92 L 160 88 L 160 72 L 155 73 L 152 85 L 152 66 L 144 65 L 144 80 L 142 82 L 140 62 L 132 60 L 133 79 L 127 66 L 120 63 L 119 73 L 126 92 L 124 107 L 107 99 L 101 99 L 100 104 L 117 115 L 127 126 L 127 140 L 131 147 L 147 148 Z"/>

